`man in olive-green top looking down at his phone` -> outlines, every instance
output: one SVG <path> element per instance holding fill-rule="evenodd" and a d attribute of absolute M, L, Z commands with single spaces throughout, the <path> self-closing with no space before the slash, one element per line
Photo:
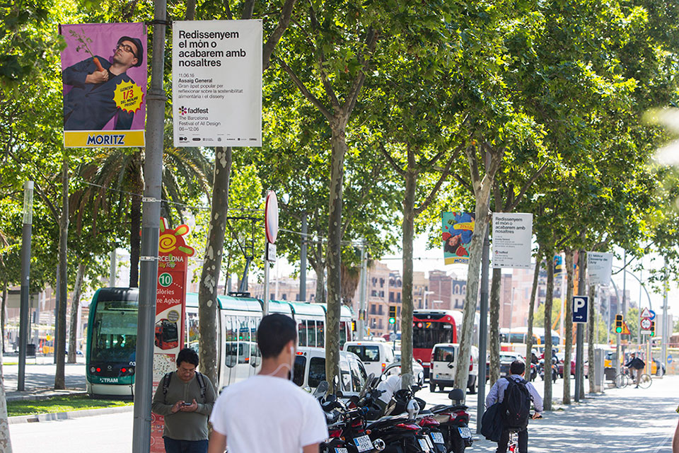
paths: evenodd
<path fill-rule="evenodd" d="M 153 413 L 163 415 L 166 453 L 206 453 L 207 419 L 216 399 L 214 386 L 196 371 L 198 354 L 184 348 L 177 355 L 177 371 L 166 374 L 153 395 Z"/>

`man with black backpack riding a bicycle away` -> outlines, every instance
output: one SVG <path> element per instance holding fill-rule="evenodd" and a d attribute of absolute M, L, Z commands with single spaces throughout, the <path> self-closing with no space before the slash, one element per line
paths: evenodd
<path fill-rule="evenodd" d="M 510 428 L 518 429 L 518 451 L 528 452 L 528 418 L 530 416 L 530 401 L 535 404 L 533 418 L 540 418 L 542 412 L 542 398 L 533 384 L 526 382 L 526 364 L 521 360 L 514 360 L 509 365 L 507 377 L 498 379 L 490 389 L 485 406 L 489 408 L 494 403 L 501 404 L 503 413 L 503 429 L 497 442 L 497 453 L 505 453 L 509 443 Z M 504 403 L 504 405 L 502 404 Z"/>

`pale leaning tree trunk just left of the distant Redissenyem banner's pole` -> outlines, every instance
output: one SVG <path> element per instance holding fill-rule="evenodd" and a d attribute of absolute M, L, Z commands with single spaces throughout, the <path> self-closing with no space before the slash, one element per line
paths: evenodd
<path fill-rule="evenodd" d="M 476 317 L 476 305 L 479 296 L 479 277 L 481 271 L 481 251 L 483 240 L 486 236 L 488 227 L 488 194 L 484 193 L 476 200 L 476 219 L 474 223 L 474 234 L 469 248 L 469 265 L 467 270 L 467 293 L 465 294 L 465 307 L 462 319 L 462 334 L 458 336 L 460 343 L 460 353 L 458 355 L 458 366 L 455 369 L 455 386 L 460 389 L 467 387 L 469 380 L 469 358 L 472 351 L 472 341 L 474 334 L 474 320 Z M 479 382 L 484 382 L 485 377 L 480 376 Z"/>

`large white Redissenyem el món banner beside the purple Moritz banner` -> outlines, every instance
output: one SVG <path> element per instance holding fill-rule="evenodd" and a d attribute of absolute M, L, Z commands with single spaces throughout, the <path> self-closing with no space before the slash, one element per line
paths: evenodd
<path fill-rule="evenodd" d="M 175 147 L 262 146 L 262 21 L 175 21 Z"/>

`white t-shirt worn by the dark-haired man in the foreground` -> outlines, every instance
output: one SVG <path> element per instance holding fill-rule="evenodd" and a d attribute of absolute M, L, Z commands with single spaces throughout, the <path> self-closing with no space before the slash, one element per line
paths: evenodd
<path fill-rule="evenodd" d="M 224 389 L 210 421 L 226 435 L 228 453 L 298 453 L 327 439 L 318 401 L 287 379 L 262 374 Z"/>

